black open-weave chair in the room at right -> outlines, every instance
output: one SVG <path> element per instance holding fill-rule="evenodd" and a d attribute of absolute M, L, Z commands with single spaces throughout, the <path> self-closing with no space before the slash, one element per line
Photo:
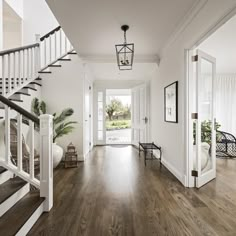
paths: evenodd
<path fill-rule="evenodd" d="M 236 158 L 236 138 L 223 131 L 216 131 L 216 156 Z"/>

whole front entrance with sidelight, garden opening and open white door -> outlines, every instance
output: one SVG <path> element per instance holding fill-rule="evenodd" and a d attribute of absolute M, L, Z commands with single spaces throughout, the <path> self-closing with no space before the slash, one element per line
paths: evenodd
<path fill-rule="evenodd" d="M 150 141 L 149 94 L 149 83 L 122 88 L 95 86 L 94 144 L 138 146 Z"/>

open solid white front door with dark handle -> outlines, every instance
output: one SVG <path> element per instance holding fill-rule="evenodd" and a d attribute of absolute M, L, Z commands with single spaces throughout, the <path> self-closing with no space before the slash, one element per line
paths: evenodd
<path fill-rule="evenodd" d="M 148 114 L 148 86 L 143 84 L 132 89 L 132 144 L 148 141 L 149 114 Z"/>

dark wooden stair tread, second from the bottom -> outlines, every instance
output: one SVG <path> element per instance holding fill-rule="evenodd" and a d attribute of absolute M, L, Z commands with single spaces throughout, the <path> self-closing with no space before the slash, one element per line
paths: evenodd
<path fill-rule="evenodd" d="M 0 204 L 8 199 L 12 194 L 21 189 L 27 182 L 19 177 L 9 179 L 0 185 Z M 1 232 L 1 230 L 0 230 Z"/>

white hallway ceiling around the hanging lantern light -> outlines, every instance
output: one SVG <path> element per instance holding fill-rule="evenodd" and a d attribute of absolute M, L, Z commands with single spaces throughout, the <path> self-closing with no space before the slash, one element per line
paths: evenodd
<path fill-rule="evenodd" d="M 101 79 L 146 78 L 158 54 L 196 0 L 47 0 L 57 20 L 83 58 L 110 58 L 90 66 Z M 198 1 L 197 1 L 198 2 Z M 128 24 L 127 41 L 135 45 L 133 71 L 120 72 L 115 44 L 123 43 L 120 27 Z M 143 62 L 137 62 L 143 58 Z M 88 63 L 89 60 L 87 60 Z M 113 62 L 113 63 L 111 63 Z M 146 65 L 150 63 L 151 65 Z"/>

